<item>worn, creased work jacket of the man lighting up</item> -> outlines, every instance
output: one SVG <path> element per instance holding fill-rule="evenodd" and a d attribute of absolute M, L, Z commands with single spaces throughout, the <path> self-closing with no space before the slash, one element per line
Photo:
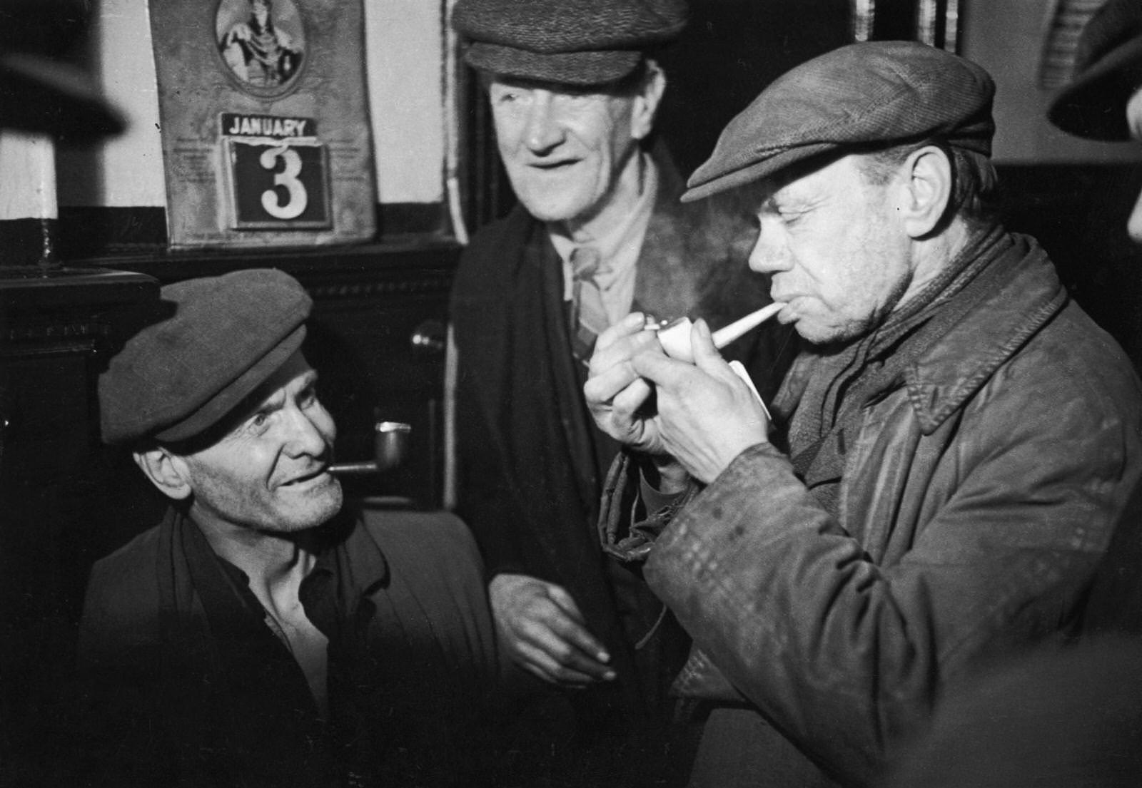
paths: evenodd
<path fill-rule="evenodd" d="M 1142 471 L 1142 397 L 1118 346 L 1020 243 L 1005 285 L 834 438 L 836 517 L 813 490 L 837 479 L 798 478 L 763 444 L 654 545 L 648 582 L 702 650 L 678 688 L 735 690 L 750 709 L 762 753 L 725 785 L 868 785 L 947 680 L 1077 625 Z"/>

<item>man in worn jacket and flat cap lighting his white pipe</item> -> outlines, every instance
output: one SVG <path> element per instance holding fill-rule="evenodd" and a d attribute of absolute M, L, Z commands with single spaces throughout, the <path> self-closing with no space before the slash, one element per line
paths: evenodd
<path fill-rule="evenodd" d="M 679 689 L 727 701 L 694 786 L 869 785 L 947 682 L 1078 623 L 1142 473 L 1142 400 L 988 209 L 992 91 L 920 43 L 843 47 L 690 179 L 684 200 L 751 195 L 749 265 L 806 342 L 772 420 L 702 323 L 693 363 L 641 315 L 600 338 L 596 421 L 693 496 L 644 574 L 694 639 Z"/>

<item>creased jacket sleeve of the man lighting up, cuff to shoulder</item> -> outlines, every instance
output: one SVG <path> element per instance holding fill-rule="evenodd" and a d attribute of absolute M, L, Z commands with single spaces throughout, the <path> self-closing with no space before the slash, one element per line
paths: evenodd
<path fill-rule="evenodd" d="M 846 785 L 876 779 L 948 677 L 1075 619 L 1136 482 L 1137 430 L 1112 407 L 1012 405 L 955 427 L 974 436 L 941 460 L 955 482 L 909 490 L 924 525 L 891 560 L 770 445 L 737 457 L 651 553 L 648 582 L 695 644 Z"/>

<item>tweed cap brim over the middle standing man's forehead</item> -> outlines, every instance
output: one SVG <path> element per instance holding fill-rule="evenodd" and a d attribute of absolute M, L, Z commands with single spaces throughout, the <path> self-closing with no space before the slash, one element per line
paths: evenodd
<path fill-rule="evenodd" d="M 609 49 L 581 52 L 533 52 L 485 41 L 473 42 L 464 54 L 468 65 L 492 74 L 561 84 L 606 84 L 629 74 L 642 52 Z"/>

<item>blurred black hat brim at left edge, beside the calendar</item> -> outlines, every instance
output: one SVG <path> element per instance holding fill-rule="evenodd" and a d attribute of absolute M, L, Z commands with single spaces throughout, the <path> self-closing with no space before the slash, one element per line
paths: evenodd
<path fill-rule="evenodd" d="M 21 52 L 0 56 L 0 124 L 71 140 L 98 139 L 124 128 L 83 71 Z"/>

